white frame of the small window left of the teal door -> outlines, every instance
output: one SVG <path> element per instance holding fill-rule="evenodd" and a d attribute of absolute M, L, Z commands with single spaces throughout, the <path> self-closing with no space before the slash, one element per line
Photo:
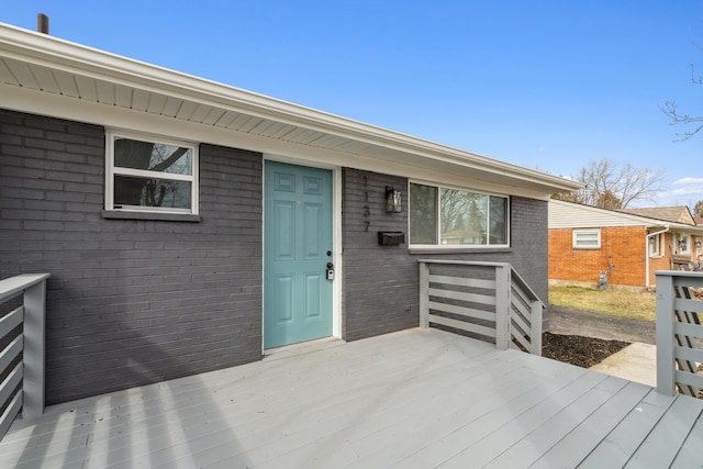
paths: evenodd
<path fill-rule="evenodd" d="M 115 168 L 114 166 L 114 138 L 123 137 L 135 139 L 140 142 L 152 142 L 159 143 L 164 145 L 171 145 L 178 147 L 187 147 L 192 150 L 193 159 L 192 159 L 192 175 L 175 175 L 170 172 L 158 172 L 158 171 L 148 171 L 144 169 L 133 169 L 133 168 Z M 183 142 L 178 139 L 171 139 L 158 135 L 152 135 L 146 133 L 136 133 L 136 132 L 123 132 L 123 131 L 114 131 L 108 130 L 105 131 L 105 211 L 108 212 L 140 212 L 140 213 L 172 213 L 172 214 L 186 214 L 186 215 L 198 215 L 198 210 L 200 205 L 200 180 L 199 180 L 199 154 L 198 154 L 198 145 L 192 142 Z M 191 182 L 191 191 L 190 191 L 190 209 L 174 209 L 174 208 L 161 208 L 161 206 L 142 206 L 142 205 L 123 205 L 120 208 L 114 206 L 114 177 L 119 176 L 137 176 L 137 177 L 158 177 L 159 179 L 169 179 L 177 181 L 189 181 Z"/>

